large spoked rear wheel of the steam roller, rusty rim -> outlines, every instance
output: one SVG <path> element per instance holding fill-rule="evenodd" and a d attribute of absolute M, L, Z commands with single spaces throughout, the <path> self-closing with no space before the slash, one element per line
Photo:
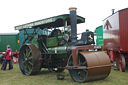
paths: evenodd
<path fill-rule="evenodd" d="M 19 67 L 24 75 L 37 74 L 41 69 L 41 53 L 36 45 L 23 45 L 19 53 Z"/>

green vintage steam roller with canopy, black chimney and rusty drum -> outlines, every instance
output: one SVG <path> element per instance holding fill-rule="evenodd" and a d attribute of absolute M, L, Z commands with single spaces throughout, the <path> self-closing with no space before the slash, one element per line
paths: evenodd
<path fill-rule="evenodd" d="M 87 29 L 77 39 L 77 24 L 84 23 L 85 18 L 76 15 L 76 9 L 15 27 L 26 36 L 19 52 L 24 75 L 35 75 L 46 68 L 50 72 L 67 69 L 71 78 L 81 83 L 108 77 L 111 63 L 103 47 L 95 45 L 94 32 Z"/>

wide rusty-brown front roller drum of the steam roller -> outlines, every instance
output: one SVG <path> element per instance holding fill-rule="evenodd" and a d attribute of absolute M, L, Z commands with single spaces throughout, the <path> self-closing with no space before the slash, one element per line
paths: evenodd
<path fill-rule="evenodd" d="M 73 59 L 70 56 L 68 66 L 73 66 Z M 80 52 L 78 53 L 78 68 L 69 69 L 72 79 L 76 82 L 88 82 L 101 80 L 108 77 L 111 71 L 111 62 L 109 57 L 104 52 Z"/>

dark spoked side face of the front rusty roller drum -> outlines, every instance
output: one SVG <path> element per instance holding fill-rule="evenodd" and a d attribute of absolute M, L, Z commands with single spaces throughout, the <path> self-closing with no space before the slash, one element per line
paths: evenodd
<path fill-rule="evenodd" d="M 78 56 L 78 65 L 79 66 L 86 66 L 87 67 L 87 62 L 86 59 L 79 54 Z M 73 59 L 72 56 L 69 57 L 68 60 L 68 66 L 73 66 Z M 69 73 L 72 77 L 72 79 L 76 82 L 85 82 L 87 75 L 88 75 L 88 70 L 85 69 L 69 69 Z"/>

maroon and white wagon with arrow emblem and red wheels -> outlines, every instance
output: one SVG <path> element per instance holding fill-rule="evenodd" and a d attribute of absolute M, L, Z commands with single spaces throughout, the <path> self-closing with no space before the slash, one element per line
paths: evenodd
<path fill-rule="evenodd" d="M 128 8 L 103 20 L 103 37 L 111 61 L 124 72 L 128 67 Z"/>

